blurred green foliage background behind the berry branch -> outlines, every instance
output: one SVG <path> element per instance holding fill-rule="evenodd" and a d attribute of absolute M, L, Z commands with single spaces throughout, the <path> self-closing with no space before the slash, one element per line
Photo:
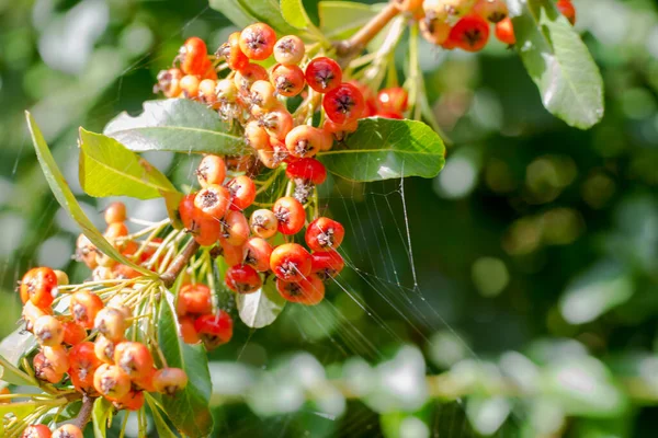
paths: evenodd
<path fill-rule="evenodd" d="M 258 332 L 238 324 L 213 354 L 215 402 L 248 393 L 217 407 L 217 436 L 658 434 L 658 10 L 574 3 L 606 84 L 602 123 L 580 131 L 551 116 L 498 42 L 476 56 L 421 45 L 453 142 L 445 169 L 327 185 L 350 267 L 320 307 L 290 306 Z M 214 48 L 234 30 L 202 0 L 0 0 L 0 336 L 18 326 L 13 289 L 29 267 L 88 275 L 71 263 L 79 231 L 41 175 L 23 111 L 101 226 L 107 200 L 77 183 L 77 127 L 138 113 L 185 37 Z M 197 160 L 148 159 L 179 186 Z M 126 203 L 138 218 L 166 215 L 159 201 Z M 418 390 L 413 379 L 445 370 L 472 396 Z M 344 394 L 322 392 L 326 377 L 362 401 L 345 407 Z M 507 379 L 523 396 L 491 383 Z"/>

